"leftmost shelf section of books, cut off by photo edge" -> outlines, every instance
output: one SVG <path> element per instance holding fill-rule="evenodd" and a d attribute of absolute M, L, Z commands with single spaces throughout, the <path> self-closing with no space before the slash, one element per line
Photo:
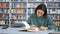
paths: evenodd
<path fill-rule="evenodd" d="M 9 25 L 9 1 L 0 0 L 0 25 Z"/>

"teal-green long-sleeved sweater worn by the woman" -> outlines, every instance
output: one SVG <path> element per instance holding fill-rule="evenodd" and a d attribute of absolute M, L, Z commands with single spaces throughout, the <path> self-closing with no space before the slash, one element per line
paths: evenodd
<path fill-rule="evenodd" d="M 28 24 L 32 25 L 34 24 L 37 27 L 40 26 L 45 26 L 48 27 L 49 30 L 55 30 L 56 26 L 55 23 L 50 19 L 49 16 L 42 16 L 42 17 L 37 17 L 34 13 L 30 15 L 28 18 Z"/>

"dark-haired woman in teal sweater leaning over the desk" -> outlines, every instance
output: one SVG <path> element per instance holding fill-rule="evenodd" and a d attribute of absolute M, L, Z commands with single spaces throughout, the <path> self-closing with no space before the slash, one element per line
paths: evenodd
<path fill-rule="evenodd" d="M 31 27 L 38 27 L 40 30 L 55 30 L 54 22 L 47 15 L 47 8 L 45 4 L 40 4 L 35 9 L 35 13 L 28 18 L 28 24 Z"/>

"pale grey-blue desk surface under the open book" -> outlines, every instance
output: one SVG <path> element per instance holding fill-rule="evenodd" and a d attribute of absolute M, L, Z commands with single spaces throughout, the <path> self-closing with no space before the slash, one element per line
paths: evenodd
<path fill-rule="evenodd" d="M 38 32 L 23 32 L 18 31 L 17 28 L 0 29 L 0 34 L 48 34 L 50 32 L 53 32 L 53 30 L 45 30 Z"/>

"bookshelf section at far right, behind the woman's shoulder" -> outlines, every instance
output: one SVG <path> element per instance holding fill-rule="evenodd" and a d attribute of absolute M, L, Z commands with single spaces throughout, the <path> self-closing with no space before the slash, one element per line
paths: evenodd
<path fill-rule="evenodd" d="M 60 26 L 60 0 L 46 0 L 48 15 L 55 21 L 56 26 Z"/>

